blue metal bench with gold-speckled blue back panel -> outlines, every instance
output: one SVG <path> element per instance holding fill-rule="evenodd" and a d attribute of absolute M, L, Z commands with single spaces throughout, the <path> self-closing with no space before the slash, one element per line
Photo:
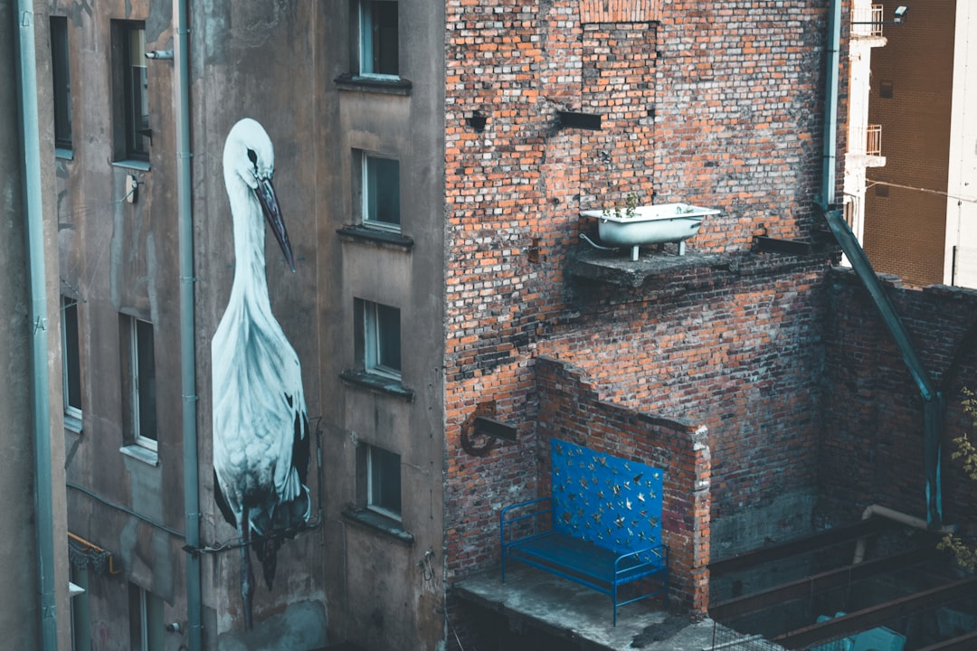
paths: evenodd
<path fill-rule="evenodd" d="M 499 513 L 502 582 L 518 561 L 610 594 L 615 626 L 624 604 L 663 593 L 667 605 L 662 471 L 557 439 L 551 448 L 553 496 Z"/>

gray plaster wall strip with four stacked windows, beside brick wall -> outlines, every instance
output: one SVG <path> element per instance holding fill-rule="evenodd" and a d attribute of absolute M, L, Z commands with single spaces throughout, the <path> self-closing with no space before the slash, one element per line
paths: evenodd
<path fill-rule="evenodd" d="M 330 634 L 365 648 L 434 648 L 444 624 L 444 5 L 400 3 L 400 73 L 405 96 L 341 90 L 352 71 L 347 15 L 335 3 L 323 17 L 319 186 L 319 335 L 327 463 L 326 586 Z M 401 162 L 402 233 L 408 250 L 339 242 L 356 224 L 354 149 Z M 413 399 L 356 387 L 339 373 L 357 364 L 354 300 L 401 309 L 403 384 Z M 361 504 L 357 455 L 363 444 L 401 455 L 404 543 L 343 515 Z M 432 555 L 426 562 L 425 555 Z"/>

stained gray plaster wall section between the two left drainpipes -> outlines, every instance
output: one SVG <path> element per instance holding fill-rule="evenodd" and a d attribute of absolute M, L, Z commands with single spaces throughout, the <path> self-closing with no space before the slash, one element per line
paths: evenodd
<path fill-rule="evenodd" d="M 187 599 L 173 64 L 148 62 L 149 164 L 114 162 L 121 90 L 111 30 L 112 20 L 144 20 L 147 49 L 172 49 L 171 3 L 52 3 L 50 11 L 67 18 L 73 109 L 72 155 L 56 164 L 60 291 L 78 302 L 82 368 L 83 427 L 64 433 L 69 526 L 111 552 L 117 571 L 89 571 L 93 644 L 130 647 L 133 584 L 162 599 L 163 621 L 181 623 L 183 632 L 152 633 L 175 651 L 187 641 Z M 133 201 L 129 176 L 139 183 Z M 120 315 L 153 326 L 155 456 L 123 452 L 131 441 Z"/>

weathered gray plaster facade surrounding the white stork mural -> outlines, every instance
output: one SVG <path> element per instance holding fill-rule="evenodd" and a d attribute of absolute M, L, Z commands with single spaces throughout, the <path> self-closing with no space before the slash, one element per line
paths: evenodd
<path fill-rule="evenodd" d="M 343 640 L 369 648 L 431 648 L 444 638 L 444 72 L 442 59 L 430 56 L 443 50 L 444 9 L 414 0 L 402 4 L 402 74 L 412 82 L 407 95 L 340 90 L 333 81 L 351 70 L 349 3 L 191 8 L 201 539 L 222 548 L 236 535 L 215 508 L 211 482 L 210 345 L 234 277 L 222 152 L 242 117 L 261 122 L 275 145 L 275 186 L 296 273 L 269 237 L 269 294 L 302 363 L 309 416 L 321 431 L 325 477 L 319 486 L 314 459 L 310 487 L 317 528 L 279 550 L 274 590 L 259 583 L 255 593 L 253 633 L 241 631 L 237 550 L 204 554 L 207 648 L 267 648 L 273 639 L 281 648 Z M 110 20 L 145 20 L 147 49 L 169 50 L 171 3 L 112 0 L 93 11 L 59 5 L 53 12 L 68 17 L 72 53 L 74 151 L 57 168 L 59 243 L 63 291 L 81 301 L 85 401 L 83 431 L 66 434 L 68 481 L 76 487 L 69 489 L 71 524 L 72 531 L 115 554 L 120 574 L 90 577 L 92 634 L 100 648 L 124 648 L 129 582 L 164 599 L 166 622 L 186 623 L 184 552 L 173 533 L 184 530 L 185 518 L 172 62 L 149 61 L 148 170 L 110 162 L 113 124 L 107 108 L 115 93 Z M 408 251 L 340 242 L 337 228 L 354 221 L 354 147 L 401 158 L 404 235 L 413 239 Z M 141 183 L 134 203 L 121 200 L 130 174 Z M 413 390 L 412 400 L 340 379 L 356 363 L 354 298 L 401 307 L 404 385 Z M 125 433 L 120 312 L 154 325 L 156 463 L 119 451 Z M 411 544 L 343 515 L 359 499 L 358 441 L 401 454 L 404 529 Z M 282 630 L 302 633 L 276 636 Z M 183 633 L 165 637 L 166 648 L 183 642 Z"/>

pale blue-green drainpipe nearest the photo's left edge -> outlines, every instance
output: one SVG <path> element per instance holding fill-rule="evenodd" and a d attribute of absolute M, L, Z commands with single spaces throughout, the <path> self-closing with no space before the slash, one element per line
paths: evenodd
<path fill-rule="evenodd" d="M 55 608 L 54 505 L 51 486 L 51 417 L 48 400 L 48 302 L 44 287 L 44 210 L 41 188 L 41 134 L 37 107 L 37 64 L 34 12 L 30 0 L 18 0 L 18 88 L 23 134 L 23 203 L 27 220 L 27 266 L 30 283 L 31 400 L 34 435 L 34 518 L 37 534 L 41 643 L 45 651 L 58 648 Z"/>

